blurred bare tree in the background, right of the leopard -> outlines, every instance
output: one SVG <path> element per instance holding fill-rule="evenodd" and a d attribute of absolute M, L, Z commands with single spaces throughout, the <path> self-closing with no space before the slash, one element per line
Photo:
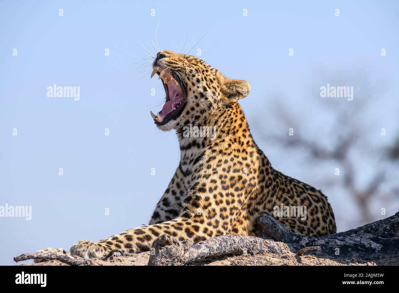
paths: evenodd
<path fill-rule="evenodd" d="M 300 131 L 296 131 L 293 136 L 288 136 L 288 132 L 266 135 L 264 129 L 259 131 L 263 134 L 263 139 L 268 144 L 274 144 L 275 146 L 284 147 L 285 149 L 298 150 L 301 154 L 303 150 L 305 150 L 306 153 L 310 155 L 311 159 L 315 161 L 319 161 L 320 163 L 333 161 L 336 162 L 337 165 L 342 166 L 344 169 L 342 172 L 343 178 L 339 180 L 339 182 L 334 181 L 333 185 L 345 189 L 350 193 L 359 210 L 359 215 L 361 216 L 361 218 L 358 219 L 358 224 L 365 224 L 378 220 L 378 218 L 376 218 L 375 207 L 371 206 L 373 201 L 374 203 L 375 201 L 381 202 L 381 207 L 383 207 L 389 205 L 391 201 L 397 200 L 399 197 L 399 187 L 391 188 L 389 187 L 390 185 L 387 184 L 388 181 L 394 184 L 398 182 L 394 176 L 393 178 L 387 178 L 387 174 L 389 174 L 387 165 L 389 163 L 387 163 L 386 160 L 384 161 L 384 159 L 387 158 L 387 152 L 381 154 L 373 150 L 371 141 L 367 138 L 364 131 L 364 125 L 368 122 L 369 117 L 367 117 L 367 114 L 363 113 L 363 110 L 372 96 L 372 90 L 366 89 L 362 95 L 362 100 L 356 104 L 356 107 L 338 108 L 339 103 L 328 105 L 324 103 L 327 109 L 320 109 L 320 111 L 335 116 L 335 125 L 332 127 L 332 130 L 328 132 L 330 134 L 329 141 L 332 142 L 330 146 L 328 146 L 329 144 L 326 146 L 323 140 L 320 142 L 320 140 L 313 140 L 312 138 L 305 137 L 300 134 Z M 279 126 L 284 125 L 284 129 L 286 130 L 289 128 L 296 128 L 297 130 L 303 129 L 303 126 L 299 125 L 299 123 L 302 123 L 302 120 L 294 119 L 295 115 L 288 113 L 286 106 L 283 106 L 281 102 L 277 100 L 272 104 L 275 105 L 275 109 L 272 110 L 272 113 L 275 119 L 277 119 Z M 295 123 L 294 121 L 299 123 Z M 265 123 L 257 123 L 257 125 L 265 125 Z M 319 133 L 324 132 L 326 132 L 326 130 L 321 128 Z M 356 157 L 353 155 L 356 152 L 361 154 L 368 153 L 364 156 L 364 160 L 369 160 L 374 169 L 370 177 L 367 178 L 366 182 L 368 182 L 368 184 L 366 185 L 364 184 L 364 174 L 359 174 L 359 161 L 356 160 Z M 399 158 L 399 140 L 390 150 L 389 155 L 391 158 Z M 325 186 L 325 182 L 328 181 L 328 179 L 325 178 L 323 180 L 324 184 L 322 186 Z M 363 184 L 360 183 L 361 181 L 363 181 Z"/>

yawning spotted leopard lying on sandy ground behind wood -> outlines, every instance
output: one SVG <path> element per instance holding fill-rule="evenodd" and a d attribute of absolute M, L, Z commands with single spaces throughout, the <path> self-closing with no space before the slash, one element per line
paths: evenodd
<path fill-rule="evenodd" d="M 147 226 L 98 242 L 80 240 L 71 255 L 145 252 L 164 234 L 192 243 L 228 234 L 259 236 L 257 218 L 262 214 L 297 234 L 336 233 L 334 213 L 322 191 L 274 169 L 255 143 L 238 102 L 250 93 L 247 81 L 229 79 L 196 56 L 168 50 L 154 56 L 154 75 L 166 98 L 162 110 L 150 115 L 156 128 L 177 134 L 176 172 Z M 306 214 L 276 212 L 283 206 L 306 207 Z"/>

